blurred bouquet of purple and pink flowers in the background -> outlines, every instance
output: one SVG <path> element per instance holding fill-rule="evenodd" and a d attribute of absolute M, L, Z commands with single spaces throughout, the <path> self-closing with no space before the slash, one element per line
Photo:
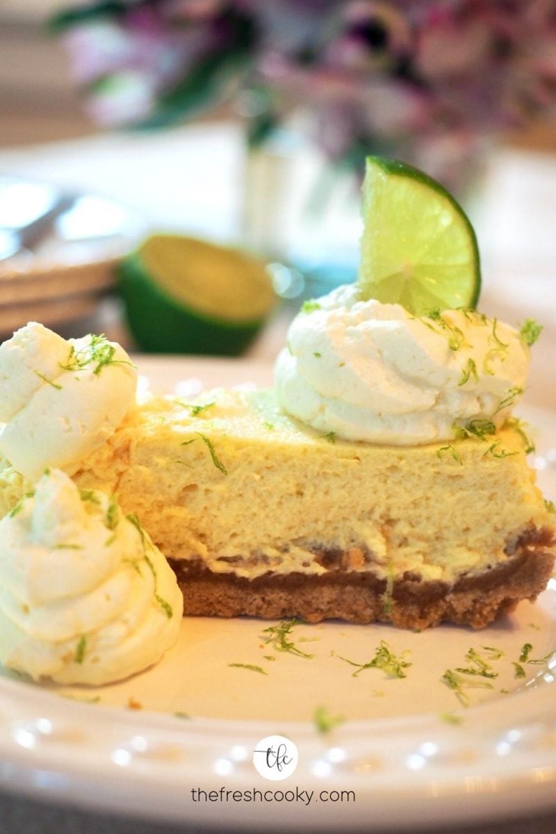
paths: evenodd
<path fill-rule="evenodd" d="M 489 138 L 556 117 L 556 0 L 105 0 L 53 24 L 105 125 L 233 97 L 260 143 L 303 108 L 334 161 L 389 153 L 457 187 Z"/>

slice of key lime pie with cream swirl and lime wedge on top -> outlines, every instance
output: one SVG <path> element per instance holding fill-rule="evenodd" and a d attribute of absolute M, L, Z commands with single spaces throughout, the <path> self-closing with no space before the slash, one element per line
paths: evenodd
<path fill-rule="evenodd" d="M 364 193 L 361 278 L 303 305 L 274 389 L 153 396 L 47 461 L 141 521 L 186 614 L 481 627 L 553 569 L 511 415 L 535 326 L 474 312 L 473 230 L 436 183 L 372 159 Z"/>

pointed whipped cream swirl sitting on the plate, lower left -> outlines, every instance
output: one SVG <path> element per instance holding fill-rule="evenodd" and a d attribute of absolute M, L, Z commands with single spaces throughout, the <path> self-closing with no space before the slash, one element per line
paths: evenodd
<path fill-rule="evenodd" d="M 133 517 L 51 470 L 0 521 L 0 662 L 34 679 L 105 684 L 177 640 L 183 597 Z"/>

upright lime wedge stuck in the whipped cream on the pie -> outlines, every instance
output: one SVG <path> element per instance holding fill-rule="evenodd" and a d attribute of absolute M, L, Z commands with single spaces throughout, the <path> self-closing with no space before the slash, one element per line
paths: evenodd
<path fill-rule="evenodd" d="M 463 208 L 440 183 L 405 163 L 368 157 L 363 224 L 363 298 L 402 304 L 416 315 L 475 306 L 481 286 L 477 239 Z"/>

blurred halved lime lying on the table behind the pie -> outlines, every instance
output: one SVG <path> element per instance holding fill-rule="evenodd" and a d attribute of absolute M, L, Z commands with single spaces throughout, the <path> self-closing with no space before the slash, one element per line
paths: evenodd
<path fill-rule="evenodd" d="M 263 261 L 181 234 L 153 234 L 119 269 L 128 324 L 149 353 L 241 353 L 276 296 Z"/>

